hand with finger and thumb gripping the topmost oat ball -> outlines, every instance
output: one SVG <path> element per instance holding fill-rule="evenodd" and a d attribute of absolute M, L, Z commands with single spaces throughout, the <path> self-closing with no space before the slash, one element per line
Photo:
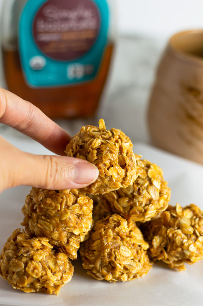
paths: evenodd
<path fill-rule="evenodd" d="M 0 122 L 32 137 L 58 155 L 65 155 L 71 139 L 36 106 L 2 88 Z M 98 174 L 96 166 L 83 159 L 25 153 L 0 136 L 0 192 L 18 185 L 44 189 L 82 188 L 94 182 Z"/>

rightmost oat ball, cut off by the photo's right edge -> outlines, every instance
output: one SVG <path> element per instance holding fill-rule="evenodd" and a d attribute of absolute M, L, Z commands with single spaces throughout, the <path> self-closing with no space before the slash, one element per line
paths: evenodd
<path fill-rule="evenodd" d="M 169 206 L 160 217 L 143 225 L 150 243 L 151 259 L 162 260 L 170 268 L 185 270 L 203 256 L 203 212 L 194 204 L 182 208 Z"/>

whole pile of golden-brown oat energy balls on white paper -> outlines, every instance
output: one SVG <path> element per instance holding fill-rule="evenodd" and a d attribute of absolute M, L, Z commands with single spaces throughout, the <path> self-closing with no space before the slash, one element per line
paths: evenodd
<path fill-rule="evenodd" d="M 0 255 L 0 274 L 13 288 L 58 294 L 71 280 L 78 249 L 87 273 L 109 282 L 144 276 L 156 260 L 183 270 L 184 262 L 202 258 L 203 213 L 194 204 L 168 207 L 161 168 L 132 147 L 103 119 L 72 138 L 67 156 L 93 163 L 99 177 L 80 190 L 32 188 L 25 230 L 15 230 Z"/>

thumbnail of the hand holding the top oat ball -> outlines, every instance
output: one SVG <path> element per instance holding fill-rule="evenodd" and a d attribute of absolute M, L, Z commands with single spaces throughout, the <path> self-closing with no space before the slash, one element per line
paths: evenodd
<path fill-rule="evenodd" d="M 75 179 L 76 184 L 92 184 L 96 181 L 99 175 L 99 170 L 93 164 L 88 162 L 77 162 L 75 164 Z"/>

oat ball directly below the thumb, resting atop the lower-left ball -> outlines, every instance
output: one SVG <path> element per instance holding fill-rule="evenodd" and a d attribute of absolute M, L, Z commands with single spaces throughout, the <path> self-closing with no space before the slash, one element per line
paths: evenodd
<path fill-rule="evenodd" d="M 49 238 L 71 259 L 77 258 L 80 242 L 93 226 L 92 200 L 77 189 L 32 188 L 23 213 L 27 233 Z"/>

